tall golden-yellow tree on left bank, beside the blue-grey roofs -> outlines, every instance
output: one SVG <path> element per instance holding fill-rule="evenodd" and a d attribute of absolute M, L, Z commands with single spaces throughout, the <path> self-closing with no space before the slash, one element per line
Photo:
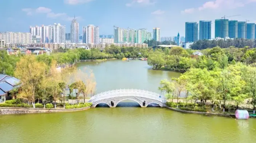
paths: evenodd
<path fill-rule="evenodd" d="M 38 62 L 34 56 L 25 56 L 16 65 L 14 75 L 21 80 L 20 97 L 32 102 L 35 108 L 35 98 L 43 77 L 46 75 L 45 63 Z"/>

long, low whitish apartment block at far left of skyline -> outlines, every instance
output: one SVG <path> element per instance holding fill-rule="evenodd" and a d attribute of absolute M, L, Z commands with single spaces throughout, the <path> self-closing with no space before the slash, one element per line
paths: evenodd
<path fill-rule="evenodd" d="M 2 33 L 2 40 L 5 43 L 11 44 L 31 44 L 32 34 L 31 33 L 21 33 L 21 32 L 5 32 Z"/>

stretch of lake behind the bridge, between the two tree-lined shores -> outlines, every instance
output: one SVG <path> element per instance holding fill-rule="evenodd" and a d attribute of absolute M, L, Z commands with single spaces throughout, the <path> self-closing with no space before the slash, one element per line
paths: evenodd
<path fill-rule="evenodd" d="M 98 64 L 97 64 L 98 63 Z M 140 89 L 160 93 L 162 79 L 179 77 L 179 72 L 153 70 L 147 61 L 110 60 L 104 62 L 77 63 L 77 70 L 93 70 L 96 79 L 96 93 L 116 89 Z"/>

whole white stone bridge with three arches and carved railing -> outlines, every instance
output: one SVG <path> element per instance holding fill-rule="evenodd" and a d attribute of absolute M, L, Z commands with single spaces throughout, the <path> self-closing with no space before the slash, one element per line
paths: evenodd
<path fill-rule="evenodd" d="M 134 90 L 134 89 L 120 89 L 111 90 L 103 93 L 99 93 L 91 97 L 92 107 L 100 103 L 105 103 L 109 107 L 116 107 L 117 104 L 123 100 L 133 100 L 138 102 L 141 107 L 147 107 L 149 104 L 158 104 L 160 107 L 165 106 L 165 97 L 150 91 Z"/>

